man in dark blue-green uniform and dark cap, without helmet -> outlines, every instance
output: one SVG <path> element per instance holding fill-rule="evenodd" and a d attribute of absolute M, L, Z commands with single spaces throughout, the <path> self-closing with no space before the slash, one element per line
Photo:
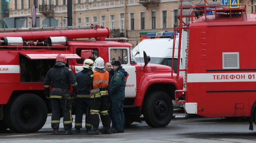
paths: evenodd
<path fill-rule="evenodd" d="M 112 62 L 114 75 L 110 81 L 110 98 L 111 98 L 111 119 L 112 133 L 124 132 L 124 89 L 126 87 L 127 72 L 121 66 L 119 60 Z"/>

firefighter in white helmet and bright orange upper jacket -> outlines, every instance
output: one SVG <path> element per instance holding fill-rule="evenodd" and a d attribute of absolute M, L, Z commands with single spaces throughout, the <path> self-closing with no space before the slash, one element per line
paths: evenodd
<path fill-rule="evenodd" d="M 108 114 L 108 81 L 109 74 L 104 69 L 104 60 L 101 57 L 95 60 L 95 70 L 93 71 L 93 89 L 91 90 L 91 106 L 90 106 L 90 123 L 93 125 L 93 129 L 88 132 L 89 135 L 99 134 L 100 118 L 104 127 L 102 134 L 110 134 L 111 119 Z"/>

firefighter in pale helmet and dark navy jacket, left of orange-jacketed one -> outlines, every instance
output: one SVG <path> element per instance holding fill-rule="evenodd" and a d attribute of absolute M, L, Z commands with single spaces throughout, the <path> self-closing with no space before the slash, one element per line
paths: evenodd
<path fill-rule="evenodd" d="M 91 83 L 93 82 L 93 65 L 93 60 L 84 60 L 83 70 L 76 74 L 76 81 L 78 83 L 75 118 L 76 133 L 80 133 L 80 128 L 82 128 L 83 111 L 87 111 L 90 105 L 90 90 L 92 85 Z M 86 132 L 88 132 L 92 128 L 92 125 L 88 123 L 87 112 L 85 113 L 85 128 Z"/>

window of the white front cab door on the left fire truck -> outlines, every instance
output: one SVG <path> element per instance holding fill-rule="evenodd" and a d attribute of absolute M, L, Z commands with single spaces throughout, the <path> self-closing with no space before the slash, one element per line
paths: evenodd
<path fill-rule="evenodd" d="M 119 60 L 122 64 L 127 64 L 127 50 L 110 49 L 110 61 L 112 62 L 114 60 Z"/>

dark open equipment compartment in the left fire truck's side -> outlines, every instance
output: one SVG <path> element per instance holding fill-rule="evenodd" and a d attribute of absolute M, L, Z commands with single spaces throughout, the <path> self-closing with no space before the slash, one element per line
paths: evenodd
<path fill-rule="evenodd" d="M 20 54 L 20 81 L 43 82 L 50 68 L 55 65 L 55 59 L 30 60 Z"/>

